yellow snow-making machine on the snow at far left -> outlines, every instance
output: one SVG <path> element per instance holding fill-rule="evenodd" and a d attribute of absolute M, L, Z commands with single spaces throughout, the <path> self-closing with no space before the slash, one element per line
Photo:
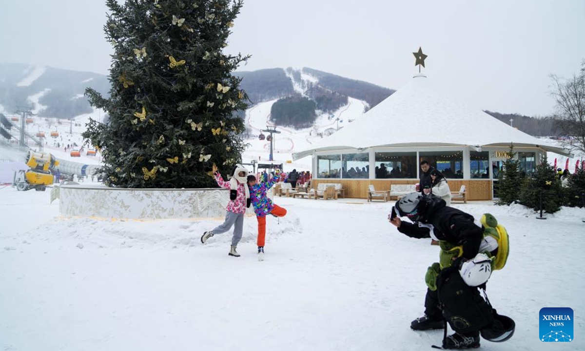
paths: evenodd
<path fill-rule="evenodd" d="M 36 191 L 44 191 L 47 185 L 53 184 L 53 173 L 56 166 L 59 166 L 59 161 L 55 157 L 46 152 L 30 151 L 27 154 L 26 166 L 30 169 L 20 171 L 23 178 L 15 181 L 16 190 L 26 191 L 35 189 Z"/>

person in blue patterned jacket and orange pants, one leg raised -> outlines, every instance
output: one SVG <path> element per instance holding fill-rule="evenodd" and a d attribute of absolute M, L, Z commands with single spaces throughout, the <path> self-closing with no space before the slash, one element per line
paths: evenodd
<path fill-rule="evenodd" d="M 278 172 L 278 170 L 277 170 Z M 267 176 L 266 176 L 267 177 Z M 264 259 L 264 239 L 266 238 L 266 215 L 271 214 L 275 217 L 283 217 L 287 214 L 287 210 L 273 204 L 266 192 L 276 183 L 278 173 L 271 177 L 270 180 L 262 176 L 260 183 L 257 183 L 255 176 L 248 176 L 248 187 L 250 188 L 250 199 L 256 212 L 256 219 L 258 220 L 258 259 Z M 286 181 L 285 177 L 285 181 Z"/>

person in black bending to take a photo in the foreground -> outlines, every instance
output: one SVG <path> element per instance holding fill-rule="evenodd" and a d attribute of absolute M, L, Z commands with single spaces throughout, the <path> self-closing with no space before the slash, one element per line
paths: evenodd
<path fill-rule="evenodd" d="M 401 221 L 401 216 L 407 216 L 414 223 Z M 445 201 L 439 197 L 413 192 L 396 202 L 392 214 L 388 215 L 388 220 L 398 228 L 399 232 L 411 238 L 431 237 L 439 240 L 441 245 L 440 263 L 434 263 L 429 267 L 425 277 L 428 285 L 425 297 L 425 314 L 411 322 L 412 329 L 424 331 L 445 328 L 443 349 L 479 347 L 480 329 L 481 335 L 491 341 L 504 341 L 512 336 L 514 322 L 510 318 L 497 315 L 495 309 L 492 309 L 488 302 L 473 300 L 476 298 L 475 294 L 479 296 L 479 292 L 475 287 L 485 290 L 485 283 L 491 274 L 492 259 L 490 257 L 496 256 L 498 242 L 492 236 L 484 236 L 484 228 L 474 223 L 472 215 L 446 206 Z M 495 221 L 495 218 L 493 218 L 493 221 Z M 442 277 L 448 276 L 453 269 L 459 270 L 458 273 L 463 270 L 469 270 L 467 277 L 463 277 L 464 273 L 461 273 L 464 281 L 462 284 L 469 285 L 463 289 L 473 287 L 469 291 L 466 290 L 467 294 L 464 297 L 459 298 L 457 296 L 459 291 L 455 294 L 453 294 L 453 290 L 449 291 L 449 288 L 455 285 L 455 278 L 452 278 L 450 282 L 445 279 L 441 280 Z M 442 284 L 439 289 L 438 284 Z M 449 287 L 449 284 L 452 284 L 451 287 Z M 443 288 L 444 290 L 441 290 Z M 457 289 L 459 288 L 457 287 Z M 451 294 L 451 297 L 454 296 L 454 298 L 449 301 L 439 301 L 441 300 L 439 290 L 446 291 L 445 294 L 442 294 L 443 297 L 446 294 Z M 470 298 L 471 300 L 462 302 L 465 298 Z M 457 305 L 459 302 L 461 304 Z M 450 316 L 454 316 L 462 309 L 463 311 L 469 309 L 470 305 L 473 304 L 479 306 L 477 311 L 485 312 L 485 314 L 477 313 L 476 315 L 467 316 L 466 312 L 461 312 L 461 315 L 468 319 L 465 328 L 460 328 L 460 325 L 453 323 L 456 318 L 462 319 L 461 315 L 456 316 L 456 318 L 449 318 L 448 321 L 456 332 L 446 336 L 446 325 L 443 316 L 447 316 L 449 313 L 446 314 L 445 311 L 452 312 Z M 496 325 L 495 322 L 498 324 Z"/>

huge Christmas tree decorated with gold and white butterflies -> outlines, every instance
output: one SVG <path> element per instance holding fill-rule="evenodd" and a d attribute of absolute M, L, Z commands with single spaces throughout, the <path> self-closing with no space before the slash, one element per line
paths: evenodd
<path fill-rule="evenodd" d="M 83 134 L 101 150 L 107 185 L 128 188 L 215 186 L 212 164 L 230 173 L 241 161 L 247 108 L 232 72 L 248 59 L 228 56 L 242 0 L 107 1 L 106 38 L 114 47 L 109 98 L 88 88 L 107 123 Z"/>

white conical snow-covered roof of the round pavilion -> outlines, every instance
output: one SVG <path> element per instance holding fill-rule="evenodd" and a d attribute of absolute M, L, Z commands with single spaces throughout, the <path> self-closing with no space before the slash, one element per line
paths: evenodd
<path fill-rule="evenodd" d="M 540 147 L 570 156 L 569 150 L 512 128 L 488 115 L 438 94 L 425 75 L 415 75 L 400 90 L 309 150 L 314 152 L 370 147 L 500 146 Z"/>

